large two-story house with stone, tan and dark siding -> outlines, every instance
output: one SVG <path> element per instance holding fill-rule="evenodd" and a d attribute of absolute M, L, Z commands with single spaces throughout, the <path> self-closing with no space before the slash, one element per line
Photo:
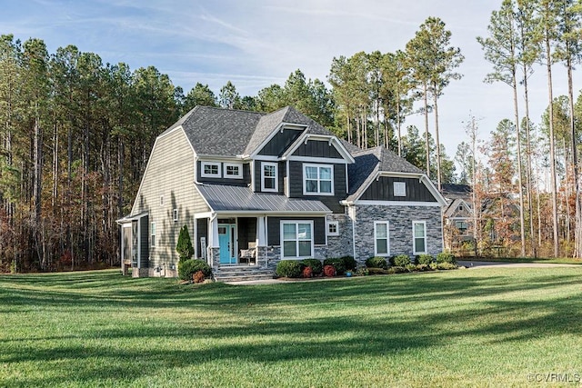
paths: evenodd
<path fill-rule="evenodd" d="M 196 106 L 156 139 L 118 220 L 122 263 L 176 276 L 184 224 L 217 280 L 270 277 L 280 260 L 437 254 L 445 204 L 403 158 L 339 140 L 292 107 Z"/>

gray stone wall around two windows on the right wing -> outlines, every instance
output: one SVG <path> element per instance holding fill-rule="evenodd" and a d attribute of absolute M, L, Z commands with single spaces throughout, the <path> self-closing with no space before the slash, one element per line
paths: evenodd
<path fill-rule="evenodd" d="M 426 222 L 428 254 L 443 250 L 441 210 L 438 206 L 356 205 L 356 258 L 374 256 L 374 222 L 389 222 L 390 255 L 413 255 L 412 222 Z"/>

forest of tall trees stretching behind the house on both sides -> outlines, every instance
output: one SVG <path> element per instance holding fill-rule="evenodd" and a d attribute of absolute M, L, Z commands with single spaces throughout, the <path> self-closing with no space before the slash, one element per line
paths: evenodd
<path fill-rule="evenodd" d="M 559 2 L 560 8 L 554 3 L 503 1 L 491 16 L 489 36 L 479 38 L 494 69 L 488 82 L 502 81 L 516 91 L 523 88 L 527 95 L 527 79 L 543 58 L 549 58 L 550 65 L 564 61 L 571 80 L 573 65 L 579 61 L 573 37 L 579 31 L 578 5 L 565 0 Z M 406 47 L 395 53 L 360 52 L 333 58 L 326 80 L 330 88 L 297 69 L 284 85 L 241 96 L 230 81 L 217 95 L 202 83 L 185 93 L 154 66 L 132 71 L 123 63 L 103 64 L 99 55 L 81 52 L 74 45 L 49 54 L 41 39 L 22 43 L 14 35 L 2 35 L 1 269 L 50 271 L 117 264 L 115 219 L 130 211 L 156 136 L 196 104 L 261 112 L 294 105 L 353 144 L 382 145 L 402 155 L 426 170 L 439 187 L 471 184 L 476 201 L 479 193 L 499 196 L 502 192 L 507 201 L 513 201 L 518 192 L 517 223 L 512 214 L 511 221 L 487 226 L 475 212 L 474 234 L 479 244 L 487 240 L 482 238 L 487 227 L 499 229 L 500 225 L 506 225 L 507 233 L 495 235 L 504 236 L 503 244 L 515 241 L 516 224 L 520 226 L 523 254 L 537 254 L 537 247 L 556 238 L 556 231 L 562 240 L 577 235 L 581 224 L 577 221 L 579 141 L 572 88 L 569 96 L 558 101 L 550 88 L 548 101 L 553 103 L 537 125 L 528 117 L 527 98 L 526 113 L 521 115 L 524 107 L 514 98 L 515 119 L 500 124 L 505 132 L 499 130 L 500 137 L 493 136 L 497 145 L 481 147 L 489 156 L 488 163 L 477 160 L 477 125 L 472 119 L 472 126 L 467 127 L 469 140 L 459 145 L 453 160 L 439 143 L 438 132 L 438 99 L 451 81 L 462 76 L 457 68 L 464 57 L 450 45 L 450 37 L 442 20 L 429 17 Z M 551 78 L 551 66 L 547 69 Z M 415 110 L 417 105 L 420 108 Z M 415 126 L 405 129 L 410 114 L 424 115 L 424 134 Z M 431 116 L 434 138 L 429 131 Z M 563 145 L 558 151 L 557 141 Z M 542 158 L 536 169 L 535 152 L 546 155 L 546 145 L 548 159 Z M 503 152 L 507 158 L 498 154 Z M 501 161 L 507 162 L 506 170 Z M 458 174 L 455 163 L 460 167 Z M 549 181 L 547 192 L 541 183 L 546 169 L 556 177 Z M 501 177 L 507 182 L 501 182 Z M 552 184 L 557 178 L 559 185 Z M 544 207 L 557 204 L 560 198 L 557 219 L 561 227 L 542 225 Z M 536 206 L 537 218 L 533 215 Z M 475 203 L 474 208 L 480 205 Z M 527 240 L 531 249 L 526 252 Z"/>

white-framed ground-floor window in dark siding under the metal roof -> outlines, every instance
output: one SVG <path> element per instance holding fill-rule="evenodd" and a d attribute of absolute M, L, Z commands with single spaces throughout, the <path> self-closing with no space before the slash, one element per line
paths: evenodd
<path fill-rule="evenodd" d="M 313 221 L 281 221 L 283 259 L 313 257 Z"/>

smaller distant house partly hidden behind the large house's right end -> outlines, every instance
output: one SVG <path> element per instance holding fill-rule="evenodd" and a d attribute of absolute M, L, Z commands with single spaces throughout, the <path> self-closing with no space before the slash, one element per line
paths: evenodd
<path fill-rule="evenodd" d="M 471 186 L 442 184 L 441 192 L 447 200 L 443 210 L 445 247 L 455 249 L 463 242 L 474 240 Z"/>

